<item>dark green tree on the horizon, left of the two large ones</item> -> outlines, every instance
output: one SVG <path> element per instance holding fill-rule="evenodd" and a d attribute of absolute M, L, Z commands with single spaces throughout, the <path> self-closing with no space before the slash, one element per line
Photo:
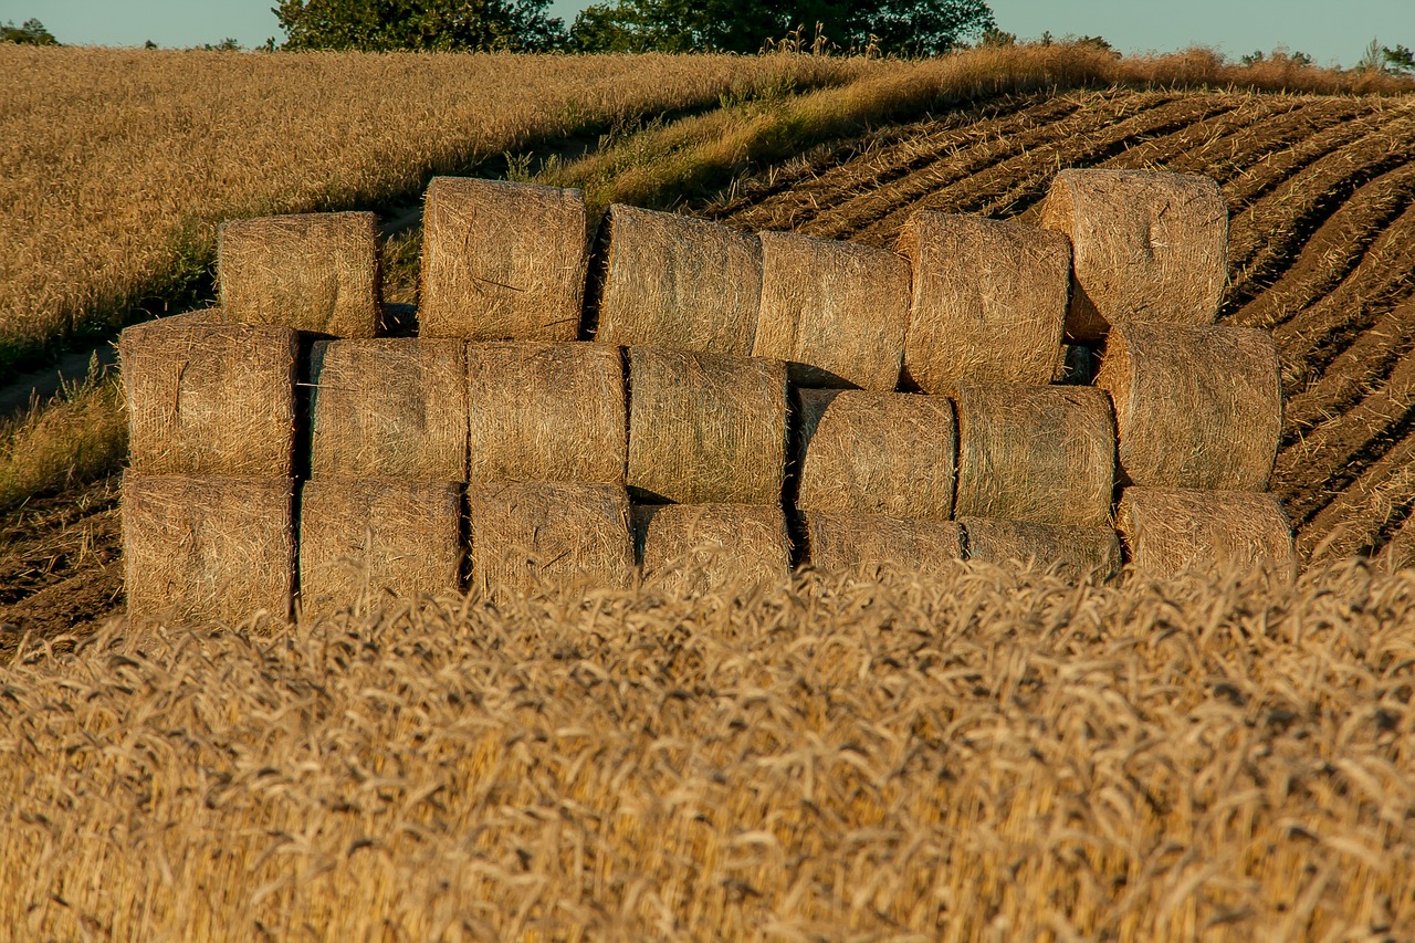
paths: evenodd
<path fill-rule="evenodd" d="M 511 50 L 559 47 L 549 0 L 280 0 L 286 50 Z"/>

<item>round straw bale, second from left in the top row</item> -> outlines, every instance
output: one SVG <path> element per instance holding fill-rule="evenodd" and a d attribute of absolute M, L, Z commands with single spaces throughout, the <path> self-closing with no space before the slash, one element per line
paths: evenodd
<path fill-rule="evenodd" d="M 579 190 L 433 177 L 423 207 L 423 337 L 570 341 L 589 266 Z"/>

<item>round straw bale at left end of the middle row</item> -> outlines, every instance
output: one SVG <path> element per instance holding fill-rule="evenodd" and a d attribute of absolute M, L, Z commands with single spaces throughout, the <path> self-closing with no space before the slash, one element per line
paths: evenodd
<path fill-rule="evenodd" d="M 117 355 L 140 474 L 289 477 L 299 338 L 209 312 L 137 324 Z"/>

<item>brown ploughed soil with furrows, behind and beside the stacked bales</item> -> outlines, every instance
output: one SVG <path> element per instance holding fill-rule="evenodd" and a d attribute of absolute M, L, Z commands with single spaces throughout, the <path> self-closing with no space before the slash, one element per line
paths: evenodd
<path fill-rule="evenodd" d="M 1231 215 L 1223 320 L 1269 327 L 1289 396 L 1274 490 L 1306 559 L 1415 564 L 1415 96 L 1009 96 L 756 167 L 695 215 L 893 248 L 918 208 L 1034 221 L 1063 167 L 1207 173 Z M 116 479 L 0 518 L 0 624 L 120 605 Z M 13 646 L 0 630 L 0 647 Z M 8 640 L 8 641 L 7 641 Z"/>

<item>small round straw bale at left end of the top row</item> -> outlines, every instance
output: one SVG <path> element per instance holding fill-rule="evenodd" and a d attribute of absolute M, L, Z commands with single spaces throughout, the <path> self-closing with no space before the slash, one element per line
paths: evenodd
<path fill-rule="evenodd" d="M 231 219 L 216 236 L 226 321 L 374 337 L 382 314 L 378 217 L 306 212 Z"/>

